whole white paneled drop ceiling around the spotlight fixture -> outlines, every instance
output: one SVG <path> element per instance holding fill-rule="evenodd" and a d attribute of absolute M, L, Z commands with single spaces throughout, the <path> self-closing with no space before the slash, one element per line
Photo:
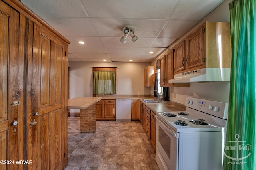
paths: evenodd
<path fill-rule="evenodd" d="M 21 0 L 71 42 L 68 61 L 77 62 L 150 62 L 223 1 Z M 135 42 L 120 42 L 127 25 Z"/>

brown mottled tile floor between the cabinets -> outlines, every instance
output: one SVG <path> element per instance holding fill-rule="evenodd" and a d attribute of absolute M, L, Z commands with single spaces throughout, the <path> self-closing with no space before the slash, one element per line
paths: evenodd
<path fill-rule="evenodd" d="M 68 118 L 65 170 L 159 170 L 139 121 L 96 121 L 95 133 L 80 133 L 79 118 Z"/>

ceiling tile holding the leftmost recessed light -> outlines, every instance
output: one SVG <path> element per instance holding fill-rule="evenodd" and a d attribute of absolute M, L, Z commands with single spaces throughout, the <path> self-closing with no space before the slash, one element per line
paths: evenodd
<path fill-rule="evenodd" d="M 66 36 L 70 41 L 68 47 L 103 47 L 99 37 Z M 84 44 L 80 44 L 82 41 Z"/>

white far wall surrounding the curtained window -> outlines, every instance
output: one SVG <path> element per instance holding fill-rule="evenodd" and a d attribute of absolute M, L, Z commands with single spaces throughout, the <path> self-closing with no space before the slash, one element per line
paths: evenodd
<path fill-rule="evenodd" d="M 70 98 L 92 97 L 92 67 L 116 68 L 117 95 L 148 95 L 150 87 L 144 87 L 144 68 L 150 63 L 69 62 Z"/>

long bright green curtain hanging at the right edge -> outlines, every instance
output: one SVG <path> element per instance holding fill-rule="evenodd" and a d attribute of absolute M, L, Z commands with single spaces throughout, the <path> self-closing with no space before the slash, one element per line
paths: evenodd
<path fill-rule="evenodd" d="M 256 0 L 230 7 L 232 44 L 223 170 L 256 170 Z"/>

